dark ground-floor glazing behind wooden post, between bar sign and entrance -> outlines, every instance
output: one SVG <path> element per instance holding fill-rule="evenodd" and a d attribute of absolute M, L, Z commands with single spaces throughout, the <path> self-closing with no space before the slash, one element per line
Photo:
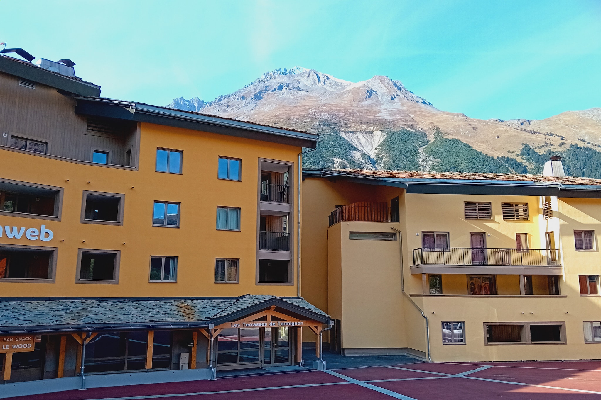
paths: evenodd
<path fill-rule="evenodd" d="M 100 333 L 85 349 L 85 370 L 88 372 L 136 371 L 146 369 L 148 338 L 152 338 L 152 369 L 171 368 L 171 332 Z"/>

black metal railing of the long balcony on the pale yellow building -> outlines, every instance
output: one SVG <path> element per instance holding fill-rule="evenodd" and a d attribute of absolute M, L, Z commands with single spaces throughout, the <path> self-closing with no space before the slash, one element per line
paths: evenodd
<path fill-rule="evenodd" d="M 413 265 L 557 266 L 558 249 L 419 248 Z"/>

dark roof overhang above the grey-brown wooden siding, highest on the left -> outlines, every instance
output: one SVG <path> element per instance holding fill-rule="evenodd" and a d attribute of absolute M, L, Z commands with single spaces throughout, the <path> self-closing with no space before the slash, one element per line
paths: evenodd
<path fill-rule="evenodd" d="M 63 76 L 31 64 L 31 62 L 20 61 L 7 56 L 0 56 L 0 72 L 51 86 L 78 96 L 100 96 L 100 86 Z"/>

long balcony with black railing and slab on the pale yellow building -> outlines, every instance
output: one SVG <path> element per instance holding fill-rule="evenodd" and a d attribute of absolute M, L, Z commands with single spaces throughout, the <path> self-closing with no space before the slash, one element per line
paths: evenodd
<path fill-rule="evenodd" d="M 561 275 L 557 249 L 419 248 L 411 273 Z"/>

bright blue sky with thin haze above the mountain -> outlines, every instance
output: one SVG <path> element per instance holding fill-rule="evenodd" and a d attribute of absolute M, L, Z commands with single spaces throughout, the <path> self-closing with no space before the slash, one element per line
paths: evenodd
<path fill-rule="evenodd" d="M 601 1 L 0 0 L 0 42 L 70 58 L 105 97 L 213 100 L 276 68 L 401 80 L 441 110 L 601 107 Z"/>

